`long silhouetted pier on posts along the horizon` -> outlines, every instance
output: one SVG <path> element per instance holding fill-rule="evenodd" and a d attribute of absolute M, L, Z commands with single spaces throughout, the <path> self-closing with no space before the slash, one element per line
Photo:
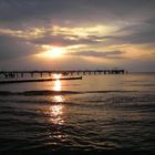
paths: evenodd
<path fill-rule="evenodd" d="M 51 76 L 52 74 L 63 74 L 63 75 L 73 75 L 73 74 L 83 74 L 83 75 L 91 75 L 91 74 L 126 74 L 128 73 L 125 70 L 65 70 L 65 71 L 0 71 L 0 76 L 2 75 L 6 79 L 13 79 L 13 78 L 23 78 L 24 74 L 30 74 L 33 78 L 35 74 L 39 74 L 41 78 L 44 74 Z"/>

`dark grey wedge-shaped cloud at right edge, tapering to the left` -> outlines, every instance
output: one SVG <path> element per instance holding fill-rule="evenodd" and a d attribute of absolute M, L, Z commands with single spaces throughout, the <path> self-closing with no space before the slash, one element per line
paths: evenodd
<path fill-rule="evenodd" d="M 125 34 L 122 34 L 125 33 Z M 151 44 L 155 43 L 155 20 L 149 22 L 126 25 L 116 31 L 115 34 L 100 37 L 101 40 L 108 40 L 110 44 Z"/>

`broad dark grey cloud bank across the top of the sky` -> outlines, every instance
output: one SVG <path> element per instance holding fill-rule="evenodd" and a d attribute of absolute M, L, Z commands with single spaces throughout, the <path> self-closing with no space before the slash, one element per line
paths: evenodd
<path fill-rule="evenodd" d="M 154 0 L 1 0 L 0 21 L 137 20 L 154 17 Z"/>

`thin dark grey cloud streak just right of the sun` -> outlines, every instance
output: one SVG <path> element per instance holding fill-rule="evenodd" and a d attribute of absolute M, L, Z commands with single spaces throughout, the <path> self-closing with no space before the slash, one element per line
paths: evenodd
<path fill-rule="evenodd" d="M 108 52 L 99 52 L 99 51 L 79 51 L 79 52 L 69 52 L 69 55 L 78 56 L 93 56 L 93 58 L 108 58 L 108 59 L 118 59 L 124 54 L 123 51 L 108 51 Z"/>

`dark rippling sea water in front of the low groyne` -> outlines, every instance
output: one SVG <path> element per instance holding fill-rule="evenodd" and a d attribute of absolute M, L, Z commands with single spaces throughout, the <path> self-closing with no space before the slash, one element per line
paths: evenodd
<path fill-rule="evenodd" d="M 0 154 L 155 154 L 155 74 L 0 85 Z"/>

